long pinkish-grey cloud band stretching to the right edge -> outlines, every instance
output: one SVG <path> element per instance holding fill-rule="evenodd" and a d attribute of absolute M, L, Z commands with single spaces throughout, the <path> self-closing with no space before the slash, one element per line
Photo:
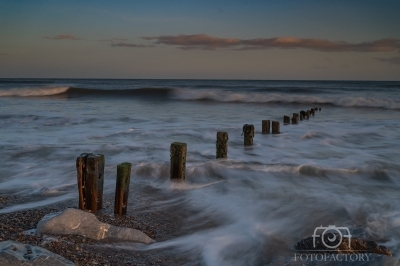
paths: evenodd
<path fill-rule="evenodd" d="M 235 50 L 263 50 L 263 49 L 309 49 L 322 52 L 391 52 L 400 50 L 400 40 L 394 38 L 380 39 L 371 42 L 348 43 L 344 41 L 329 41 L 317 38 L 256 38 L 234 39 L 219 38 L 206 34 L 195 35 L 166 35 L 142 37 L 144 40 L 154 41 L 155 44 L 178 46 L 183 50 L 203 49 L 215 50 L 218 48 L 232 48 Z"/>

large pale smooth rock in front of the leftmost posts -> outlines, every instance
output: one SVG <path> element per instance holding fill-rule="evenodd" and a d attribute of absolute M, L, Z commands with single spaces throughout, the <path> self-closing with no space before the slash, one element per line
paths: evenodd
<path fill-rule="evenodd" d="M 150 244 L 155 242 L 139 230 L 102 223 L 96 216 L 77 209 L 50 213 L 39 221 L 36 234 L 82 235 L 95 240 L 132 241 Z"/>

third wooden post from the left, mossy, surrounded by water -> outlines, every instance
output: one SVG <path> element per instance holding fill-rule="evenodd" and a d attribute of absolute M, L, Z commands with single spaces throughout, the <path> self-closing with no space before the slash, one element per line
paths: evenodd
<path fill-rule="evenodd" d="M 182 142 L 171 143 L 170 155 L 170 179 L 174 181 L 184 181 L 186 171 L 186 151 L 187 145 Z"/>

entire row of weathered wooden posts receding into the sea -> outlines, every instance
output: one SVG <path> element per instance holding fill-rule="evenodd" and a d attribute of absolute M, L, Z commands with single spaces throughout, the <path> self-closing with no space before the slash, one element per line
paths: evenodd
<path fill-rule="evenodd" d="M 315 111 L 321 108 L 312 108 L 300 113 L 293 113 L 283 117 L 284 124 L 298 124 L 299 119 L 308 119 L 314 116 Z M 269 134 L 270 120 L 262 121 L 262 134 Z M 280 133 L 278 121 L 272 121 L 272 134 Z M 244 145 L 253 145 L 254 125 L 243 126 Z M 217 132 L 216 158 L 228 158 L 228 133 Z M 187 145 L 182 142 L 173 142 L 170 147 L 170 179 L 174 181 L 185 180 Z M 82 153 L 76 159 L 78 174 L 79 208 L 90 212 L 97 212 L 103 208 L 104 184 L 104 155 Z M 128 207 L 129 184 L 132 164 L 128 162 L 117 166 L 117 182 L 115 188 L 114 214 L 125 215 Z"/>

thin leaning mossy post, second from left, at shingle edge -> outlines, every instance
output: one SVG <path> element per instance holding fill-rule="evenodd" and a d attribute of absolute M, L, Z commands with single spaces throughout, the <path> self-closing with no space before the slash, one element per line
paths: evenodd
<path fill-rule="evenodd" d="M 115 186 L 114 214 L 125 215 L 128 209 L 129 183 L 131 181 L 131 163 L 117 166 L 117 184 Z"/>

